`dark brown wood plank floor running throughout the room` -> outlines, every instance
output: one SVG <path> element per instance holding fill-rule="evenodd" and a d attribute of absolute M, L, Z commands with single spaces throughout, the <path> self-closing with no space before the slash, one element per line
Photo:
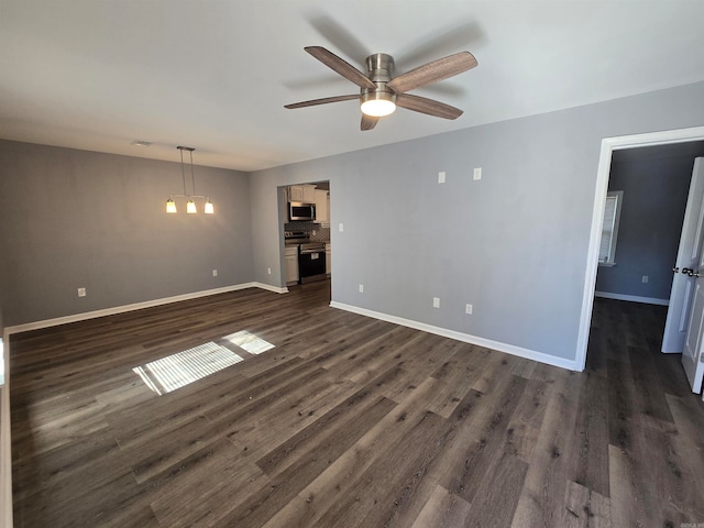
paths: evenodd
<path fill-rule="evenodd" d="M 248 289 L 12 336 L 14 522 L 673 527 L 704 522 L 704 406 L 664 308 L 596 299 L 583 373 Z M 258 355 L 222 338 L 246 330 Z M 132 369 L 244 361 L 157 396 Z"/>

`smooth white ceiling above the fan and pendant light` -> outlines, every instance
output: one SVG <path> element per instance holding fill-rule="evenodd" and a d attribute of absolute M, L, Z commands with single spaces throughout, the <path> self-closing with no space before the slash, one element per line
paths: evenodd
<path fill-rule="evenodd" d="M 702 21 L 703 0 L 0 0 L 0 138 L 255 170 L 704 80 Z M 361 132 L 355 101 L 284 109 L 359 91 L 308 45 L 479 67 L 414 91 L 458 120 Z"/>

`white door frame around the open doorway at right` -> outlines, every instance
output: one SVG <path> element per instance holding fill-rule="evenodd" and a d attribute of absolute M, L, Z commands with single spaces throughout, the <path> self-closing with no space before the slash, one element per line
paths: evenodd
<path fill-rule="evenodd" d="M 592 210 L 592 230 L 590 232 L 590 245 L 586 253 L 584 294 L 582 297 L 582 311 L 574 360 L 576 371 L 583 371 L 586 365 L 586 346 L 590 339 L 590 328 L 592 326 L 592 309 L 594 307 L 596 272 L 598 270 L 598 246 L 602 239 L 602 223 L 604 222 L 604 207 L 606 205 L 606 191 L 608 190 L 613 152 L 639 146 L 668 145 L 702 140 L 704 140 L 704 127 L 620 135 L 602 140 L 602 150 L 596 173 L 596 188 L 594 190 L 594 208 Z"/>

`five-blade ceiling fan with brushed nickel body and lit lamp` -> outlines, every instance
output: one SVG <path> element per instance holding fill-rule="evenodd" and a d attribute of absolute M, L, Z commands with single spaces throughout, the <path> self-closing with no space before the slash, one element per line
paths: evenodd
<path fill-rule="evenodd" d="M 310 101 L 286 105 L 284 108 L 315 107 L 329 102 L 360 100 L 362 110 L 362 130 L 372 130 L 380 118 L 388 116 L 402 107 L 415 112 L 437 118 L 457 119 L 462 110 L 444 102 L 406 94 L 415 88 L 427 86 L 453 77 L 476 66 L 476 58 L 470 52 L 460 52 L 444 58 L 424 64 L 410 72 L 393 77 L 394 57 L 385 53 L 375 53 L 366 57 L 366 74 L 338 57 L 322 46 L 304 48 L 322 64 L 360 87 L 360 94 L 326 97 Z"/>

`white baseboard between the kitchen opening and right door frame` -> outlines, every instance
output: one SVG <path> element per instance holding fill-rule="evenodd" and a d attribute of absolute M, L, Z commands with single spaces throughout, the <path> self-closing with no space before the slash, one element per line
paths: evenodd
<path fill-rule="evenodd" d="M 360 316 L 371 317 L 373 319 L 380 319 L 386 322 L 393 322 L 394 324 L 400 324 L 402 327 L 414 328 L 428 333 L 435 333 L 442 336 L 443 338 L 454 339 L 457 341 L 463 341 L 465 343 L 476 344 L 486 349 L 497 350 L 498 352 L 505 352 L 507 354 L 517 355 L 527 360 L 538 361 L 552 366 L 559 366 L 561 369 L 568 369 L 570 371 L 576 371 L 576 363 L 573 360 L 565 360 L 564 358 L 557 358 L 554 355 L 546 354 L 535 350 L 524 349 L 514 344 L 502 343 L 499 341 L 493 341 L 491 339 L 480 338 L 469 333 L 458 332 L 455 330 L 449 330 L 447 328 L 435 327 L 425 322 L 414 321 L 411 319 L 404 319 L 402 317 L 389 316 L 388 314 L 382 314 L 380 311 L 367 310 L 366 308 L 360 308 L 358 306 L 345 305 L 343 302 L 331 301 L 330 307 L 338 308 L 344 311 L 351 311 Z"/>

